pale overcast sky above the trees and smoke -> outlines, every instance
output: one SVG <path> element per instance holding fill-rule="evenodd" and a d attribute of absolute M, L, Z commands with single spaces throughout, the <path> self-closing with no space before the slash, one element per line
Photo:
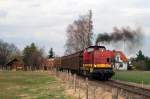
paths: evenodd
<path fill-rule="evenodd" d="M 141 26 L 143 52 L 150 56 L 150 0 L 0 0 L 0 39 L 21 50 L 35 42 L 63 55 L 68 24 L 93 11 L 94 34 L 114 26 Z"/>

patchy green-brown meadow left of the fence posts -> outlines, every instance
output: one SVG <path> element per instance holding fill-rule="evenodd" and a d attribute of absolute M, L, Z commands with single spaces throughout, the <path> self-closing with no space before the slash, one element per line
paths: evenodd
<path fill-rule="evenodd" d="M 72 99 L 44 72 L 0 72 L 0 99 Z"/>

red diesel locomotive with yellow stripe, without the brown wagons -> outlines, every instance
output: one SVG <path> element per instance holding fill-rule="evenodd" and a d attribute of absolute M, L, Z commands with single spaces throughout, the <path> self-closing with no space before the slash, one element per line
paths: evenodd
<path fill-rule="evenodd" d="M 90 46 L 83 53 L 83 68 L 86 74 L 107 80 L 114 74 L 113 58 L 113 52 L 104 46 Z"/>

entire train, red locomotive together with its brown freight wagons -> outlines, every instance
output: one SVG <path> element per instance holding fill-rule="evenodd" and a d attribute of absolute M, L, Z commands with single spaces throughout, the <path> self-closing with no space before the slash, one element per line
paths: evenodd
<path fill-rule="evenodd" d="M 104 46 L 90 46 L 83 51 L 55 58 L 55 67 L 57 70 L 68 70 L 90 78 L 108 80 L 114 75 L 116 52 L 106 50 Z M 127 61 L 124 54 L 121 54 L 121 59 Z"/>

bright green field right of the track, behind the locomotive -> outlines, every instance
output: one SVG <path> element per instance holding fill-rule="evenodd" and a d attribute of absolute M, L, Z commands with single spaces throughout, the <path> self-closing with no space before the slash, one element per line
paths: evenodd
<path fill-rule="evenodd" d="M 150 85 L 150 71 L 116 71 L 112 79 Z"/>

